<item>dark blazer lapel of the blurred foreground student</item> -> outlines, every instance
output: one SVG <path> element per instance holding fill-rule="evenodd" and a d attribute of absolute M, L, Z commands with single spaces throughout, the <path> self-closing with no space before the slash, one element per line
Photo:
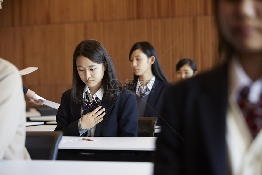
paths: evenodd
<path fill-rule="evenodd" d="M 200 123 L 214 174 L 226 174 L 227 66 L 212 75 L 211 82 L 206 82 L 200 96 Z"/>

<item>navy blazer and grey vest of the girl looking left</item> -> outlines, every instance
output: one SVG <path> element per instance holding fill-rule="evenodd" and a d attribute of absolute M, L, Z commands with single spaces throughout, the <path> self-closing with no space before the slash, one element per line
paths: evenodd
<path fill-rule="evenodd" d="M 137 94 L 137 83 L 138 80 L 133 80 L 132 82 L 126 84 L 126 89 L 129 89 L 133 93 Z M 149 81 L 150 83 L 150 81 Z M 157 125 L 163 125 L 165 122 L 162 120 L 162 108 L 164 105 L 164 101 L 166 97 L 164 96 L 166 89 L 168 86 L 171 86 L 170 83 L 159 80 L 158 78 L 154 79 L 154 83 L 152 83 L 152 88 L 149 94 L 145 97 L 140 97 L 139 94 L 136 95 L 137 102 L 144 103 L 144 110 L 142 113 L 138 115 L 139 117 L 158 117 Z M 144 100 L 146 99 L 146 100 Z M 137 103 L 138 111 L 140 111 L 141 106 Z"/>

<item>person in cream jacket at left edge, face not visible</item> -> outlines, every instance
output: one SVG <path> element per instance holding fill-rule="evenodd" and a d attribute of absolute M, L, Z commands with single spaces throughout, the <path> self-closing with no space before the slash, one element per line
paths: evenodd
<path fill-rule="evenodd" d="M 25 148 L 25 100 L 17 68 L 0 58 L 0 159 L 30 159 Z"/>

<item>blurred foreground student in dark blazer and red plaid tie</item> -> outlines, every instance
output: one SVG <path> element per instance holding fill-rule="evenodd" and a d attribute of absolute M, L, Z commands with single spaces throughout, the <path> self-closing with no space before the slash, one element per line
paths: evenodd
<path fill-rule="evenodd" d="M 215 0 L 215 10 L 228 60 L 168 91 L 156 175 L 262 174 L 262 1 Z"/>

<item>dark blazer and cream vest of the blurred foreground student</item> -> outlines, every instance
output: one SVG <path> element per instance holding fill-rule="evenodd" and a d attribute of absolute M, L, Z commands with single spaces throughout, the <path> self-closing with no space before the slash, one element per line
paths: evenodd
<path fill-rule="evenodd" d="M 226 63 L 168 89 L 169 126 L 157 140 L 155 175 L 261 174 L 262 132 L 250 140 L 242 111 L 232 102 L 231 67 Z"/>

